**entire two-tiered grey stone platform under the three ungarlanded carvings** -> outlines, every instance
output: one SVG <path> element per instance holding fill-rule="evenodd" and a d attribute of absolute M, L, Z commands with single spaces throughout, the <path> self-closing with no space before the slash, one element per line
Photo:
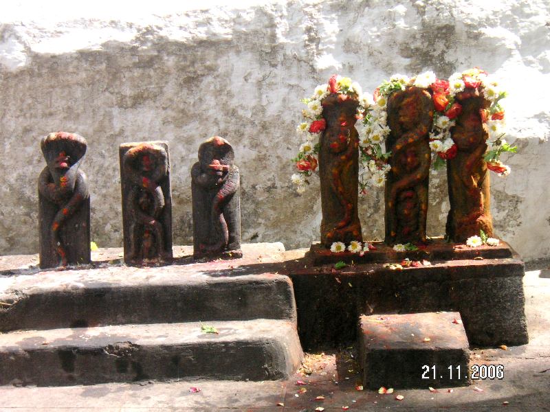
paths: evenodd
<path fill-rule="evenodd" d="M 121 249 L 53 271 L 3 258 L 0 385 L 290 376 L 303 356 L 292 282 L 265 266 L 284 247 L 243 250 L 197 262 L 179 248 L 176 264 L 144 268 L 122 264 Z"/>

